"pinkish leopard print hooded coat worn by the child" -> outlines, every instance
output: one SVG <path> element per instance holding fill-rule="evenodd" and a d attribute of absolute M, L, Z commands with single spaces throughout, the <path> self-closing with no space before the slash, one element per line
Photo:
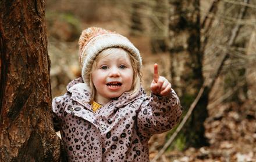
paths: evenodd
<path fill-rule="evenodd" d="M 150 137 L 173 128 L 182 114 L 175 91 L 148 97 L 142 87 L 136 95 L 123 93 L 94 113 L 81 78 L 68 84 L 65 95 L 54 98 L 52 109 L 69 161 L 147 162 Z"/>

